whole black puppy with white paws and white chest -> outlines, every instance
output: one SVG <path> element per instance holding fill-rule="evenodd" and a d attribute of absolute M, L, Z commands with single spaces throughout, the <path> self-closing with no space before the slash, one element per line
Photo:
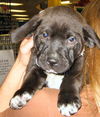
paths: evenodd
<path fill-rule="evenodd" d="M 34 47 L 25 80 L 11 99 L 10 107 L 21 109 L 37 90 L 48 86 L 60 89 L 58 109 L 61 114 L 75 114 L 81 108 L 84 46 L 100 48 L 100 40 L 79 13 L 65 6 L 40 12 L 11 34 L 12 41 L 17 42 L 32 33 Z"/>

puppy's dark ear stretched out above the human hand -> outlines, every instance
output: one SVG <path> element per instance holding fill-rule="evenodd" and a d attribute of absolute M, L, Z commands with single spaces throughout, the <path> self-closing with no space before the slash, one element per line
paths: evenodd
<path fill-rule="evenodd" d="M 31 32 L 33 32 L 41 23 L 39 15 L 35 15 L 27 23 L 11 32 L 11 39 L 13 43 L 21 41 Z"/>

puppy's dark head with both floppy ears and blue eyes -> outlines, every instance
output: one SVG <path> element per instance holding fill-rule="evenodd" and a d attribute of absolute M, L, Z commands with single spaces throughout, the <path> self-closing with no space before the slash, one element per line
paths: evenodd
<path fill-rule="evenodd" d="M 100 41 L 83 17 L 71 8 L 44 10 L 12 33 L 14 41 L 34 33 L 36 64 L 48 72 L 63 73 L 81 55 L 84 45 L 100 48 Z"/>

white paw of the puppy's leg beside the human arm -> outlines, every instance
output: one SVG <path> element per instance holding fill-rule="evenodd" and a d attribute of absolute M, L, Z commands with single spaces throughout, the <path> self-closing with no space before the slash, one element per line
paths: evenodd
<path fill-rule="evenodd" d="M 15 95 L 10 103 L 9 106 L 12 109 L 21 109 L 26 103 L 32 98 L 28 92 L 24 92 L 22 95 Z"/>

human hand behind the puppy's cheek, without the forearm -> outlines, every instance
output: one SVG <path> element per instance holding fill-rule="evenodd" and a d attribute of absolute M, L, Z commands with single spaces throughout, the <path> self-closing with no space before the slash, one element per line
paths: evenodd
<path fill-rule="evenodd" d="M 18 63 L 24 65 L 25 67 L 28 65 L 30 55 L 31 55 L 31 48 L 33 47 L 33 37 L 31 38 L 25 38 L 19 49 L 17 61 Z"/>

